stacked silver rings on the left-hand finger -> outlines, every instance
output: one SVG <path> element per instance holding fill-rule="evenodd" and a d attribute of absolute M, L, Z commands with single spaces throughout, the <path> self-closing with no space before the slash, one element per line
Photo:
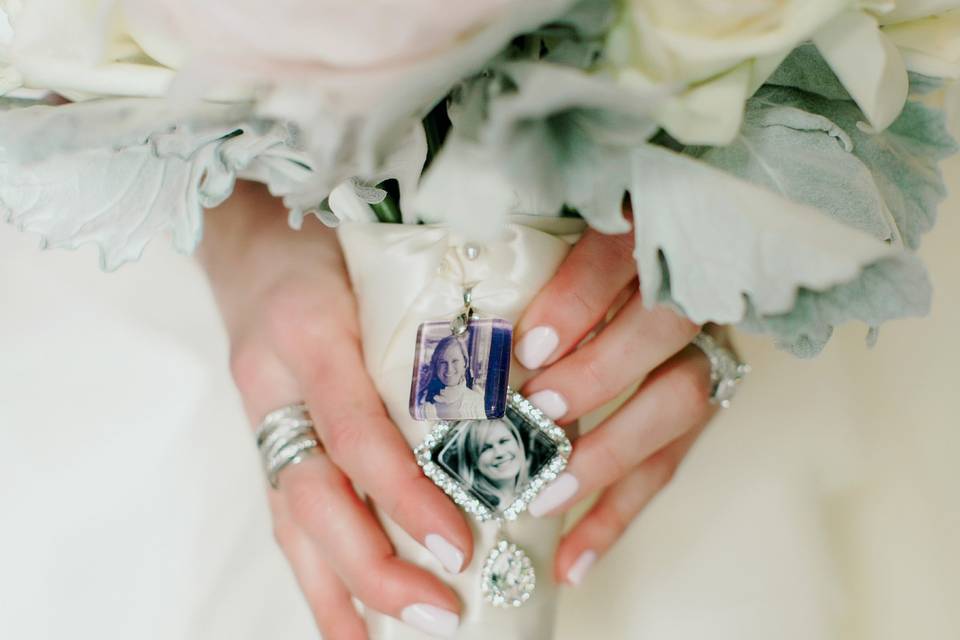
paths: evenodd
<path fill-rule="evenodd" d="M 281 471 L 302 462 L 320 447 L 313 419 L 302 403 L 268 413 L 257 429 L 256 438 L 264 471 L 274 489 Z"/>

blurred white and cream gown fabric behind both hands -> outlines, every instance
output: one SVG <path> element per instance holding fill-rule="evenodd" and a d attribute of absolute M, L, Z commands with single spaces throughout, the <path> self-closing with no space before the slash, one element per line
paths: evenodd
<path fill-rule="evenodd" d="M 922 250 L 931 317 L 811 362 L 741 337 L 755 373 L 565 593 L 561 638 L 960 637 L 958 196 Z M 226 358 L 191 260 L 104 275 L 0 228 L 0 638 L 317 636 Z"/>

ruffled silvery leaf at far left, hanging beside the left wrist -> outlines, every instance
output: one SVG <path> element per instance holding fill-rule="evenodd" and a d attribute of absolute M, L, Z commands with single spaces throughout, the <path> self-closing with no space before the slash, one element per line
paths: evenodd
<path fill-rule="evenodd" d="M 136 260 L 162 232 L 190 252 L 203 209 L 220 204 L 239 175 L 285 195 L 309 174 L 285 129 L 235 124 L 235 108 L 220 109 L 189 123 L 163 101 L 141 99 L 0 113 L 0 211 L 44 247 L 97 245 L 105 270 Z"/>

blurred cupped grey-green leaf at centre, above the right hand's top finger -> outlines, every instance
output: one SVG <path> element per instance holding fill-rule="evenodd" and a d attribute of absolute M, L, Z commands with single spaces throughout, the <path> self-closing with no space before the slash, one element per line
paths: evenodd
<path fill-rule="evenodd" d="M 661 94 L 631 93 L 596 74 L 548 63 L 514 63 L 517 90 L 490 104 L 484 144 L 522 190 L 543 194 L 544 209 L 577 210 L 604 233 L 630 229 L 623 219 L 630 150 L 645 144 Z"/>

